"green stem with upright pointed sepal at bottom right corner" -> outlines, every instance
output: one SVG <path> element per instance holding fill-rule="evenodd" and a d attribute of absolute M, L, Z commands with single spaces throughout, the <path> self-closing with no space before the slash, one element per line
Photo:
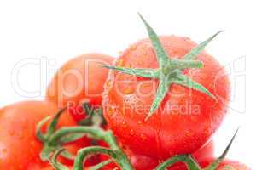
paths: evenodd
<path fill-rule="evenodd" d="M 213 161 L 208 167 L 203 168 L 204 170 L 216 170 L 218 168 L 221 162 L 224 161 L 225 156 L 228 154 L 228 151 L 230 150 L 230 147 L 233 144 L 237 133 L 238 129 L 236 130 L 236 133 L 233 135 L 232 139 L 230 140 L 230 143 L 227 145 L 222 155 L 219 156 L 218 159 Z M 184 162 L 189 170 L 202 170 L 200 165 L 195 161 L 195 159 L 191 155 L 173 156 L 164 161 L 163 163 L 161 163 L 158 167 L 155 168 L 155 170 L 165 170 L 167 167 L 172 167 L 173 164 L 180 161 Z"/>

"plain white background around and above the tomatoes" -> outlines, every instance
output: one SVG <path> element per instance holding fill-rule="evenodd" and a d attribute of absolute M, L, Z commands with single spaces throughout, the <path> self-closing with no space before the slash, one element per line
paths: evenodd
<path fill-rule="evenodd" d="M 147 36 L 137 12 L 159 34 L 191 37 L 196 42 L 224 30 L 207 47 L 208 53 L 230 66 L 233 83 L 230 114 L 214 136 L 216 155 L 241 126 L 228 157 L 256 168 L 253 1 L 1 1 L 0 105 L 44 99 L 48 80 L 39 65 L 28 65 L 19 75 L 20 88 L 38 93 L 15 91 L 11 73 L 20 60 L 46 59 L 52 74 L 78 54 L 102 52 L 117 57 Z"/>

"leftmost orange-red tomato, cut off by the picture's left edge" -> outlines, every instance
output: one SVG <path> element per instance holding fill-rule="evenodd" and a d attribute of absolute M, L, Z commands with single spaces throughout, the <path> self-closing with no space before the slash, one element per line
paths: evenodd
<path fill-rule="evenodd" d="M 0 110 L 0 169 L 37 170 L 47 165 L 39 158 L 43 144 L 35 135 L 36 126 L 57 111 L 56 105 L 47 101 L 23 101 Z M 71 116 L 63 114 L 58 126 L 75 125 Z M 67 150 L 75 153 L 79 147 L 71 144 Z"/>

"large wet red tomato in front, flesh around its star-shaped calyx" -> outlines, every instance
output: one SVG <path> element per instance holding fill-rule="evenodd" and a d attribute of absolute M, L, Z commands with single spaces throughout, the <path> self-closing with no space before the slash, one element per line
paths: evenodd
<path fill-rule="evenodd" d="M 186 37 L 160 37 L 172 59 L 188 54 L 196 43 Z M 186 69 L 183 74 L 207 88 L 217 100 L 191 88 L 173 83 L 160 107 L 145 121 L 154 101 L 159 81 L 111 71 L 103 95 L 103 114 L 121 143 L 131 150 L 156 159 L 198 150 L 222 122 L 230 97 L 230 82 L 225 71 L 206 52 L 197 57 L 201 69 Z M 116 62 L 129 68 L 158 68 L 152 43 L 139 41 L 126 49 Z"/>

